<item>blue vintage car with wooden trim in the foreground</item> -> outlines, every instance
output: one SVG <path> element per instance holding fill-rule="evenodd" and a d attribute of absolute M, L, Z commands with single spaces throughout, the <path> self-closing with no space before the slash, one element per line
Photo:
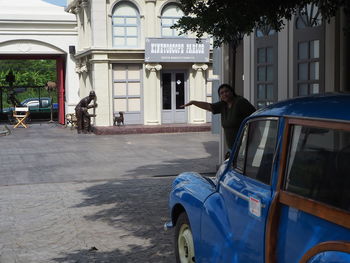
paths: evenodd
<path fill-rule="evenodd" d="M 176 177 L 169 207 L 177 262 L 349 263 L 350 95 L 255 112 L 215 177 Z"/>

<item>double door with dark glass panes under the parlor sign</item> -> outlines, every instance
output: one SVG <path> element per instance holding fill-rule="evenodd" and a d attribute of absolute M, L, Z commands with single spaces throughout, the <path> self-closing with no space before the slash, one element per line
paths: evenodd
<path fill-rule="evenodd" d="M 163 71 L 162 89 L 162 123 L 186 123 L 186 110 L 180 108 L 186 100 L 186 72 Z"/>

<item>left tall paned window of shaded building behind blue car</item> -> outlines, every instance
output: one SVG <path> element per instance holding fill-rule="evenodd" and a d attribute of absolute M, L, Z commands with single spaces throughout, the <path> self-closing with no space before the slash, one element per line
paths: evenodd
<path fill-rule="evenodd" d="M 277 101 L 277 34 L 270 26 L 255 31 L 255 98 L 257 108 Z"/>

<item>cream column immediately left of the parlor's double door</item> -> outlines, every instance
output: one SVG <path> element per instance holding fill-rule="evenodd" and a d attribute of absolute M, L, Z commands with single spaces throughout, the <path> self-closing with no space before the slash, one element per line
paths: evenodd
<path fill-rule="evenodd" d="M 147 81 L 144 87 L 144 124 L 157 125 L 161 124 L 159 71 L 162 65 L 147 64 L 145 68 Z"/>

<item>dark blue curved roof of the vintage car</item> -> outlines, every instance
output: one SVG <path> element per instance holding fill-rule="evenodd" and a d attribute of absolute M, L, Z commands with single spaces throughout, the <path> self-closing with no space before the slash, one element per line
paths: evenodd
<path fill-rule="evenodd" d="M 284 100 L 256 111 L 253 116 L 294 116 L 350 121 L 350 94 L 326 93 Z"/>

